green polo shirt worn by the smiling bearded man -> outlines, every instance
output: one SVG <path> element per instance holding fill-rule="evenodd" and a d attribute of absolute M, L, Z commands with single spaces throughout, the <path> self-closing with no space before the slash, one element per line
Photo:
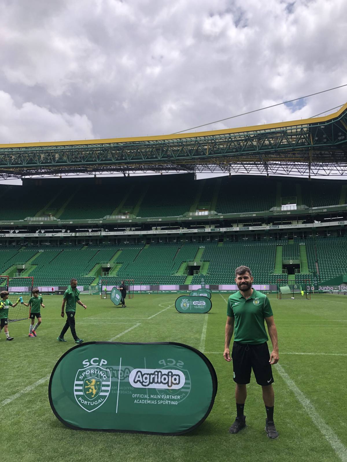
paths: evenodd
<path fill-rule="evenodd" d="M 253 289 L 246 300 L 241 292 L 230 295 L 227 315 L 235 318 L 234 340 L 241 343 L 258 345 L 267 342 L 265 318 L 273 316 L 269 299 Z"/>

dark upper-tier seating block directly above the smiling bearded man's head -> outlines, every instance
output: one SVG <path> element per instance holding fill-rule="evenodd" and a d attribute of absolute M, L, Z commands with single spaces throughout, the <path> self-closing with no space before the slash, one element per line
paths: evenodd
<path fill-rule="evenodd" d="M 251 175 L 245 180 L 233 177 L 223 178 L 219 189 L 216 211 L 218 213 L 262 212 L 274 207 L 276 202 L 276 182 L 260 181 Z"/>

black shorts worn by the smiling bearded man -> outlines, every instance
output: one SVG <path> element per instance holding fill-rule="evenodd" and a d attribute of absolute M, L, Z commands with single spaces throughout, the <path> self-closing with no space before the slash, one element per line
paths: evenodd
<path fill-rule="evenodd" d="M 270 353 L 266 342 L 259 345 L 234 342 L 231 357 L 233 359 L 234 382 L 249 383 L 253 369 L 258 385 L 264 386 L 273 383 L 273 373 L 269 363 Z"/>

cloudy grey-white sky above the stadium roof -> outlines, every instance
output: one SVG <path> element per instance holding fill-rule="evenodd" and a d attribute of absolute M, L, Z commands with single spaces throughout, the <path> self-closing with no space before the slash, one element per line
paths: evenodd
<path fill-rule="evenodd" d="M 173 133 L 343 85 L 346 30 L 346 0 L 0 0 L 0 143 Z"/>

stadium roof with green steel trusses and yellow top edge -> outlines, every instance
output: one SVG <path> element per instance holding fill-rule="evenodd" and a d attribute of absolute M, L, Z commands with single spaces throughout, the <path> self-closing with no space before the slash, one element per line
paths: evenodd
<path fill-rule="evenodd" d="M 0 144 L 0 175 L 136 171 L 343 175 L 347 103 L 328 116 L 205 132 Z"/>

